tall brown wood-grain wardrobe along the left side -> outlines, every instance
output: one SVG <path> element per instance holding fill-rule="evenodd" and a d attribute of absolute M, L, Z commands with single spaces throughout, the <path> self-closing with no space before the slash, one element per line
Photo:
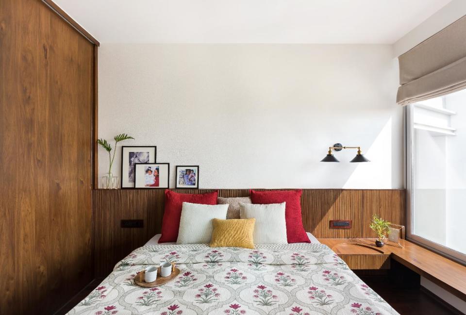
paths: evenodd
<path fill-rule="evenodd" d="M 51 1 L 0 0 L 0 314 L 92 278 L 98 42 Z"/>

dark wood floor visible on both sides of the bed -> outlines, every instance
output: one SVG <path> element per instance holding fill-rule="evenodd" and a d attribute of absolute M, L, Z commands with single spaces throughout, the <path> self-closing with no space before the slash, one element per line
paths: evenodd
<path fill-rule="evenodd" d="M 458 315 L 444 303 L 426 293 L 419 285 L 419 276 L 403 266 L 392 264 L 390 273 L 356 274 L 385 299 L 400 315 Z M 70 300 L 55 315 L 65 315 L 103 279 L 96 279 L 89 283 L 75 298 Z"/>

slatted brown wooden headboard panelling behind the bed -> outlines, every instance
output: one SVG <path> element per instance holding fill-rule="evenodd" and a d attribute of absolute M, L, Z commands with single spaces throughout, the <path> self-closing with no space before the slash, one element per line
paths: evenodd
<path fill-rule="evenodd" d="M 201 194 L 215 189 L 173 189 Z M 93 225 L 96 277 L 106 276 L 131 250 L 162 229 L 164 189 L 94 190 Z M 219 197 L 246 197 L 249 189 L 218 189 Z M 405 225 L 404 189 L 303 189 L 304 228 L 317 238 L 375 237 L 373 214 Z M 142 219 L 143 228 L 121 228 L 122 219 Z M 351 229 L 329 229 L 330 220 L 352 220 Z"/>

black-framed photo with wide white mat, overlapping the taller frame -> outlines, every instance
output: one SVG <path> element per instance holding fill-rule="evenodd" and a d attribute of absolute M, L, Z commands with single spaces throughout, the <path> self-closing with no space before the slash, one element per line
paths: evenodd
<path fill-rule="evenodd" d="M 169 163 L 136 163 L 135 188 L 168 188 Z"/>

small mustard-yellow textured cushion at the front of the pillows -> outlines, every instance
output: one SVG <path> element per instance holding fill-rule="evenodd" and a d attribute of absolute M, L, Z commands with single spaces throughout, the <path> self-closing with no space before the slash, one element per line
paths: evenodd
<path fill-rule="evenodd" d="M 256 219 L 212 219 L 214 231 L 210 247 L 254 248 L 254 223 Z"/>

